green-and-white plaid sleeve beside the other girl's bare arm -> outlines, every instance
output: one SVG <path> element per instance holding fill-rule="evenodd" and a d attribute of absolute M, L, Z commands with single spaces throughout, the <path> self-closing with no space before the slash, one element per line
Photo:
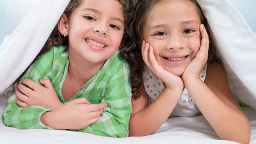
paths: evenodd
<path fill-rule="evenodd" d="M 120 66 L 120 65 L 119 65 Z M 121 68 L 120 68 L 121 67 Z M 129 68 L 122 65 L 111 69 L 111 79 L 106 85 L 106 92 L 101 103 L 107 103 L 98 122 L 78 130 L 107 137 L 128 137 L 129 118 L 132 112 L 131 84 Z"/>

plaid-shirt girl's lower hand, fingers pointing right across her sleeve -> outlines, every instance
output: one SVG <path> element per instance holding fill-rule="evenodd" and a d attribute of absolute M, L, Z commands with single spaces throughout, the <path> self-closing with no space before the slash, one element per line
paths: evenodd
<path fill-rule="evenodd" d="M 41 116 L 41 122 L 56 130 L 80 130 L 96 123 L 106 103 L 88 104 L 86 98 L 73 99 L 56 111 Z"/>

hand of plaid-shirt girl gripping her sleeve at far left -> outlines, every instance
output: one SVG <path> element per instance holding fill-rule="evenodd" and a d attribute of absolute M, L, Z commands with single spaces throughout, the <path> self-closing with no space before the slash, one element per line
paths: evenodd
<path fill-rule="evenodd" d="M 15 90 L 16 102 L 20 107 L 44 106 L 52 110 L 62 105 L 49 79 L 40 79 L 41 86 L 30 79 L 23 79 Z"/>

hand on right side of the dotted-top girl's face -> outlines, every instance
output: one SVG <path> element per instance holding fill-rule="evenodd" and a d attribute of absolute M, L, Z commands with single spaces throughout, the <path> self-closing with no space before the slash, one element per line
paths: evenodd
<path fill-rule="evenodd" d="M 200 79 L 200 73 L 208 59 L 209 37 L 203 24 L 200 25 L 200 32 L 202 35 L 201 46 L 195 58 L 189 63 L 182 74 L 184 82 L 188 79 Z"/>

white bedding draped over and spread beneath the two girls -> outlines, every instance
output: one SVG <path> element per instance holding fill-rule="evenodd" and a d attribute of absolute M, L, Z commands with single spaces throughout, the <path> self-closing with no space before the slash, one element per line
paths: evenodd
<path fill-rule="evenodd" d="M 135 0 L 136 1 L 136 0 Z M 256 33 L 229 0 L 197 0 L 215 34 L 218 53 L 233 94 L 251 124 L 250 144 L 256 144 Z M 39 0 L 13 33 L 0 44 L 0 114 L 13 81 L 27 68 L 51 33 L 69 0 Z M 21 60 L 22 59 L 22 60 Z M 7 89 L 7 87 L 9 88 Z M 249 105 L 249 106 L 247 106 Z M 237 144 L 218 140 L 201 115 L 169 118 L 155 134 L 146 137 L 100 137 L 88 133 L 54 130 L 18 130 L 0 121 L 2 144 Z"/>

